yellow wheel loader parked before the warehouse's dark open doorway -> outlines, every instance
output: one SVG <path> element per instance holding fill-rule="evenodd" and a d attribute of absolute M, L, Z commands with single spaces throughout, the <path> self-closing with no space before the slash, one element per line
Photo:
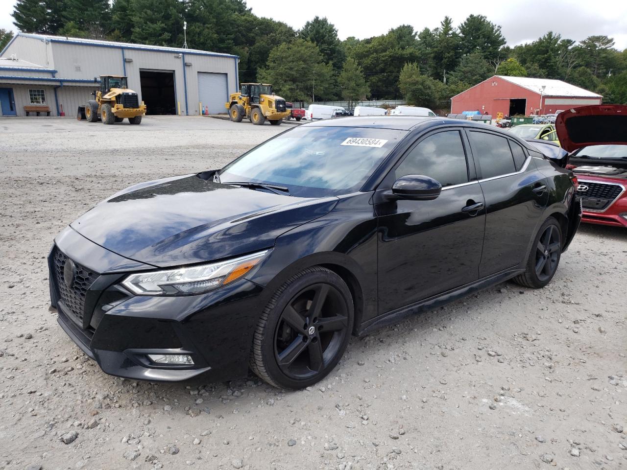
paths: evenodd
<path fill-rule="evenodd" d="M 93 81 L 97 83 L 98 78 Z M 131 124 L 139 124 L 146 113 L 146 105 L 139 104 L 139 97 L 135 91 L 129 90 L 125 76 L 100 76 L 100 90 L 95 92 L 95 98 L 84 107 L 78 107 L 78 120 L 85 118 L 89 122 L 113 124 L 129 118 Z"/>

